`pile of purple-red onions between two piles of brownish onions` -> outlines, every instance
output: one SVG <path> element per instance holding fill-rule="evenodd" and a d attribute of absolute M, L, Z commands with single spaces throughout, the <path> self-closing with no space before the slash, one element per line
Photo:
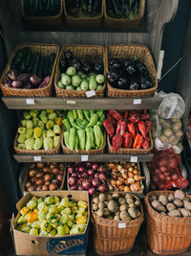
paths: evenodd
<path fill-rule="evenodd" d="M 100 163 L 69 163 L 67 171 L 70 190 L 87 190 L 93 196 L 109 189 L 109 174 Z"/>

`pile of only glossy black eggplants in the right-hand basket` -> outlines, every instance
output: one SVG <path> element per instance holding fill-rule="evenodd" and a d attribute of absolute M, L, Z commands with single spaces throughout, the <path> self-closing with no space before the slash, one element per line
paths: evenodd
<path fill-rule="evenodd" d="M 147 67 L 137 58 L 120 60 L 113 58 L 109 62 L 107 80 L 110 85 L 123 90 L 147 90 L 154 87 Z"/>

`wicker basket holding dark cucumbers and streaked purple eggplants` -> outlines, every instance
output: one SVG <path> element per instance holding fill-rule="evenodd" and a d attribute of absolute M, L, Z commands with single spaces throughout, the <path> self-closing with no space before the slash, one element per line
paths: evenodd
<path fill-rule="evenodd" d="M 24 47 L 29 47 L 32 50 L 32 53 L 38 52 L 42 56 L 48 56 L 53 53 L 56 54 L 54 62 L 53 62 L 53 70 L 52 70 L 52 74 L 51 74 L 51 79 L 46 87 L 40 88 L 40 89 L 15 89 L 15 88 L 11 88 L 11 87 L 7 87 L 7 86 L 3 85 L 3 79 L 11 68 L 12 58 L 14 58 L 14 55 L 18 50 L 20 50 Z M 52 95 L 53 75 L 54 75 L 54 69 L 55 69 L 55 64 L 56 64 L 57 58 L 58 58 L 58 54 L 59 54 L 59 46 L 56 44 L 24 43 L 24 44 L 16 45 L 16 47 L 14 48 L 14 50 L 11 54 L 11 58 L 9 59 L 9 62 L 1 76 L 0 86 L 1 86 L 1 90 L 3 92 L 3 95 L 4 96 L 13 96 L 13 97 L 26 97 L 26 96 L 48 97 L 48 96 L 51 96 Z"/>

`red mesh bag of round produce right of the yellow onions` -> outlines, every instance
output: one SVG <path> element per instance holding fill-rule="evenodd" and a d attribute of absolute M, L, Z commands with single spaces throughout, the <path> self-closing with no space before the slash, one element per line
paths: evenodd
<path fill-rule="evenodd" d="M 175 154 L 172 148 L 167 151 L 154 151 L 152 161 L 147 163 L 151 175 L 150 190 L 187 187 L 187 179 L 180 175 L 180 163 L 180 154 Z"/>

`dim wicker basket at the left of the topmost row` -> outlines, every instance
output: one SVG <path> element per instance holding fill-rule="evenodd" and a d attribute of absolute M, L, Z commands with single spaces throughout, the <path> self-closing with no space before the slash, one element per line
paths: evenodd
<path fill-rule="evenodd" d="M 54 16 L 27 16 L 24 12 L 24 0 L 21 0 L 21 12 L 24 18 L 25 24 L 39 28 L 61 28 L 63 26 L 63 1 L 60 0 L 60 12 Z"/>

